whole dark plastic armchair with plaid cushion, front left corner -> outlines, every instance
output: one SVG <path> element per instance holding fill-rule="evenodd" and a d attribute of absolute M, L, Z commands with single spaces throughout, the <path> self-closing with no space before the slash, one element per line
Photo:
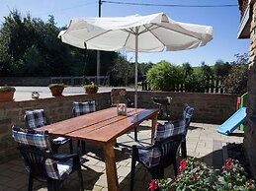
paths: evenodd
<path fill-rule="evenodd" d="M 55 191 L 74 171 L 77 171 L 80 188 L 84 190 L 78 154 L 53 155 L 49 147 L 47 131 L 13 127 L 12 134 L 30 174 L 29 191 L 33 190 L 34 179 L 47 182 L 47 190 Z"/>

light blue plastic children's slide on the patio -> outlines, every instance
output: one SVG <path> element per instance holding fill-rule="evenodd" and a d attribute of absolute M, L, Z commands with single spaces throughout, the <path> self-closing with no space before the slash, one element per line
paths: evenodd
<path fill-rule="evenodd" d="M 223 135 L 228 135 L 229 133 L 232 133 L 237 128 L 237 126 L 243 123 L 245 117 L 246 107 L 242 107 L 217 128 L 217 133 Z"/>

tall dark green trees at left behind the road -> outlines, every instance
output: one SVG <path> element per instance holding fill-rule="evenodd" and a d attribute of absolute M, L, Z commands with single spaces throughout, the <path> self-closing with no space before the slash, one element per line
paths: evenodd
<path fill-rule="evenodd" d="M 0 29 L 1 76 L 94 76 L 96 51 L 64 44 L 53 16 L 47 22 L 11 11 Z M 102 52 L 101 73 L 106 75 L 116 52 Z"/>

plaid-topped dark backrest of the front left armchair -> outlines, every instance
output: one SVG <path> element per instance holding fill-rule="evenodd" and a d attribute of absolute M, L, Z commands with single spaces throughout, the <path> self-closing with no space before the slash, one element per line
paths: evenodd
<path fill-rule="evenodd" d="M 60 179 L 50 150 L 47 131 L 24 130 L 13 126 L 12 134 L 25 159 L 26 169 L 34 177 Z"/>

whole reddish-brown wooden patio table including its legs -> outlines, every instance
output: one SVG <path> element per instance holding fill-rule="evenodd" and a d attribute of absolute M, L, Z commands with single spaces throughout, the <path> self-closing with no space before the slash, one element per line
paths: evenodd
<path fill-rule="evenodd" d="M 118 191 L 119 181 L 114 151 L 116 139 L 147 119 L 152 120 L 152 136 L 157 123 L 157 114 L 158 109 L 128 108 L 127 116 L 122 116 L 117 114 L 116 107 L 111 107 L 52 123 L 37 130 L 47 130 L 52 136 L 65 136 L 103 147 L 108 189 Z"/>

